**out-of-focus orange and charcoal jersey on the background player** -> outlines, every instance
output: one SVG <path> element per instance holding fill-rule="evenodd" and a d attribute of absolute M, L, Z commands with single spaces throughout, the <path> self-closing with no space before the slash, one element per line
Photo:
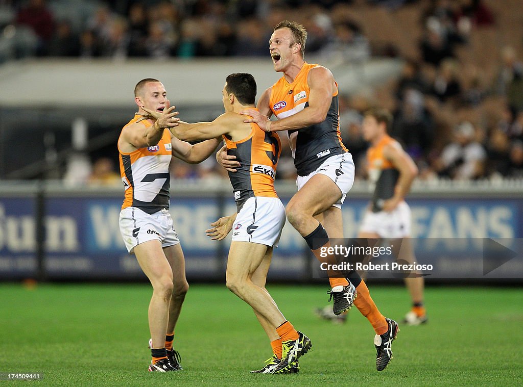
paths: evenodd
<path fill-rule="evenodd" d="M 400 172 L 383 155 L 383 148 L 389 144 L 397 144 L 397 142 L 385 135 L 378 144 L 367 150 L 367 171 L 370 181 L 374 183 L 372 197 L 374 212 L 380 209 L 379 203 L 394 196 L 394 188 L 400 177 Z"/>

